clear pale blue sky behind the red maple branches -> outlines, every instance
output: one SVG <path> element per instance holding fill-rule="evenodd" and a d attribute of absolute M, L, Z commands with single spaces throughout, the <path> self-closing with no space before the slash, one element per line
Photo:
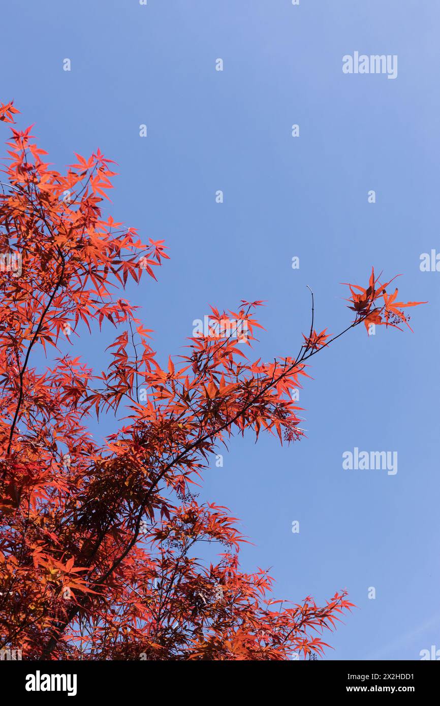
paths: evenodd
<path fill-rule="evenodd" d="M 254 542 L 244 567 L 272 567 L 275 597 L 322 602 L 347 588 L 358 607 L 328 640 L 328 659 L 440 649 L 440 273 L 420 271 L 420 254 L 440 251 L 440 7 L 7 5 L 0 100 L 14 98 L 22 126 L 35 123 L 57 168 L 98 146 L 116 160 L 112 215 L 167 241 L 159 282 L 129 289 L 160 359 L 182 352 L 209 304 L 234 310 L 241 299 L 267 300 L 255 357 L 293 355 L 309 325 L 306 285 L 316 328 L 338 333 L 351 313 L 340 282 L 366 283 L 371 265 L 403 273 L 403 301 L 429 300 L 412 312 L 414 333 L 368 338 L 359 327 L 314 357 L 300 397 L 307 439 L 232 441 L 203 496 L 241 518 Z M 396 54 L 398 77 L 344 74 L 355 51 Z M 98 369 L 112 336 L 88 342 Z M 355 447 L 397 451 L 397 474 L 343 470 Z"/>

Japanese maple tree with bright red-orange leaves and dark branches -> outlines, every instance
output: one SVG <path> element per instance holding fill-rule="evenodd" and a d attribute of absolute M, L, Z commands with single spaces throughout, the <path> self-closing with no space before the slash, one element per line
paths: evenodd
<path fill-rule="evenodd" d="M 12 103 L 0 119 L 14 123 Z M 280 441 L 304 435 L 292 390 L 307 361 L 360 323 L 408 324 L 390 282 L 350 286 L 354 318 L 328 335 L 311 327 L 296 357 L 251 361 L 259 301 L 212 309 L 212 330 L 189 340 L 166 369 L 129 278 L 155 274 L 163 241 L 104 218 L 111 160 L 76 155 L 66 174 L 45 162 L 30 128 L 11 128 L 1 179 L 0 646 L 24 659 L 290 659 L 323 654 L 324 629 L 352 605 L 271 598 L 265 570 L 244 573 L 246 541 L 229 510 L 199 503 L 210 455 L 233 433 Z M 246 337 L 219 338 L 240 323 Z M 105 371 L 75 355 L 75 336 L 116 328 Z M 73 342 L 73 346 L 71 343 Z M 44 369 L 32 356 L 47 355 Z M 244 354 L 244 350 L 248 352 Z M 71 352 L 73 351 L 73 355 Z M 141 394 L 143 393 L 143 394 Z M 118 413 L 98 445 L 88 421 Z M 220 544 L 210 562 L 199 542 Z"/>

